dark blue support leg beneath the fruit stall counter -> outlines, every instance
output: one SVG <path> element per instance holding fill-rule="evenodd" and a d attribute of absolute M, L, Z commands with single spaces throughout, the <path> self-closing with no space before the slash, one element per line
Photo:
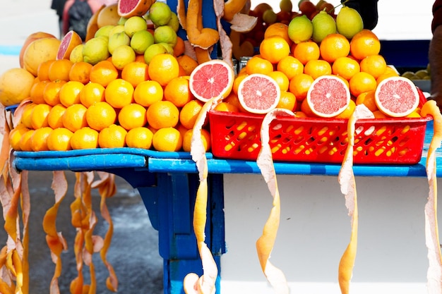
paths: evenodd
<path fill-rule="evenodd" d="M 143 185 L 139 180 L 142 175 L 148 185 Z M 146 172 L 138 174 L 138 179 L 133 178 L 130 173 L 120 176 L 138 189 L 148 210 L 150 222 L 158 231 L 160 256 L 164 259 L 164 293 L 184 294 L 183 279 L 186 274 L 203 274 L 192 225 L 198 175 Z M 219 294 L 220 257 L 225 253 L 222 174 L 210 174 L 208 187 L 208 223 L 205 235 L 206 243 L 218 266 L 216 288 Z"/>

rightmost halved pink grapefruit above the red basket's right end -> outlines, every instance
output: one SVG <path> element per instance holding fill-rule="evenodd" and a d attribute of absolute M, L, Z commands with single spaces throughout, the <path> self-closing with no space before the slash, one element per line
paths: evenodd
<path fill-rule="evenodd" d="M 378 109 L 391 117 L 404 117 L 419 106 L 416 85 L 404 77 L 390 77 L 379 83 L 374 93 Z"/>

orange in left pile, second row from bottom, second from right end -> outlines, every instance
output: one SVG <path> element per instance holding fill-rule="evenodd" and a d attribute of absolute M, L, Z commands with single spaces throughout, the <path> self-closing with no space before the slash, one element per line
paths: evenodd
<path fill-rule="evenodd" d="M 179 110 L 172 102 L 158 101 L 148 107 L 146 116 L 153 128 L 174 127 L 179 121 Z"/>

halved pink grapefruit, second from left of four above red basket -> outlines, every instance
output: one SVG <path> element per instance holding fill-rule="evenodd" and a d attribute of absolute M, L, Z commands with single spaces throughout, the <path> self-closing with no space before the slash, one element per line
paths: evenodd
<path fill-rule="evenodd" d="M 239 103 L 252 114 L 267 114 L 276 108 L 280 97 L 277 82 L 261 73 L 247 75 L 238 86 Z"/>

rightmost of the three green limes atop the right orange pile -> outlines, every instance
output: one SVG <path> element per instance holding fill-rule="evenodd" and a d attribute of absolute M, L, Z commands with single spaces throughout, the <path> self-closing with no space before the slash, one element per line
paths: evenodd
<path fill-rule="evenodd" d="M 336 16 L 336 27 L 341 35 L 352 39 L 354 35 L 364 29 L 364 23 L 356 9 L 344 6 Z"/>

